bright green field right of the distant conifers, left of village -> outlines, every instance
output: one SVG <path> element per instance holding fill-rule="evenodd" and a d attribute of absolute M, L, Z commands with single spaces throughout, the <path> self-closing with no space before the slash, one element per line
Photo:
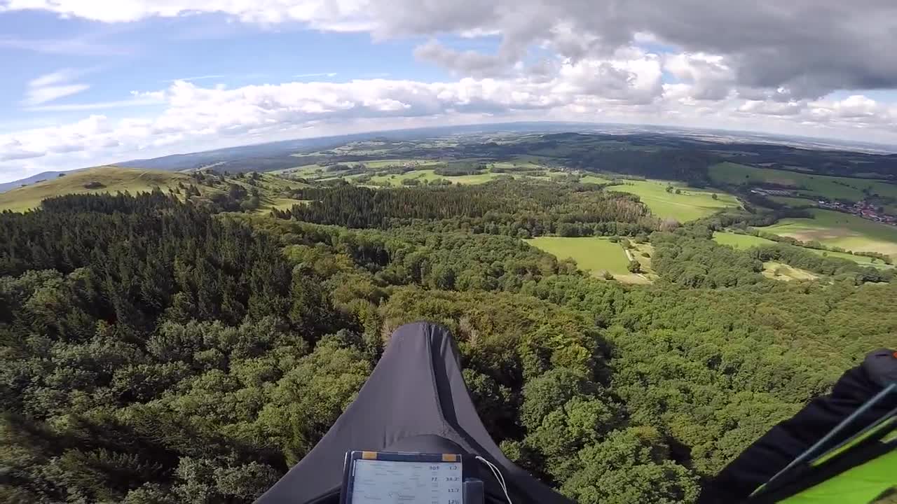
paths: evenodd
<path fill-rule="evenodd" d="M 668 182 L 662 180 L 626 180 L 621 186 L 609 188 L 637 195 L 644 204 L 648 205 L 651 213 L 679 222 L 694 221 L 717 213 L 724 208 L 741 206 L 735 196 L 721 191 L 677 187 L 682 191 L 682 194 L 677 195 L 666 192 L 668 185 Z M 713 199 L 712 194 L 714 193 L 718 199 Z"/>

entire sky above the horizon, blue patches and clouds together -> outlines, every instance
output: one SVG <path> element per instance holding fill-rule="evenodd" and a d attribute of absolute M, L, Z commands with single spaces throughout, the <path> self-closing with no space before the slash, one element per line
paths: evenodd
<path fill-rule="evenodd" d="M 569 120 L 897 144 L 893 0 L 0 0 L 0 182 Z"/>

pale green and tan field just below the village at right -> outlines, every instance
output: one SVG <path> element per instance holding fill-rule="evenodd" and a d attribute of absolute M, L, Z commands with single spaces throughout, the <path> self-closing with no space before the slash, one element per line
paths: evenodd
<path fill-rule="evenodd" d="M 814 209 L 810 213 L 813 219 L 783 219 L 758 229 L 801 241 L 815 240 L 829 247 L 854 252 L 897 255 L 897 227 L 831 210 Z"/>

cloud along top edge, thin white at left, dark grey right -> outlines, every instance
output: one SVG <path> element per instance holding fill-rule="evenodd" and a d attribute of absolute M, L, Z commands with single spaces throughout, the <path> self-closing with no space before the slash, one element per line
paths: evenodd
<path fill-rule="evenodd" d="M 724 96 L 718 83 L 729 79 L 748 91 L 783 88 L 788 92 L 777 97 L 782 101 L 897 87 L 897 53 L 882 50 L 893 45 L 897 3 L 884 0 L 0 0 L 4 10 L 109 23 L 216 13 L 266 26 L 298 22 L 318 30 L 365 31 L 375 39 L 494 35 L 501 45 L 493 57 L 505 70 L 533 47 L 575 62 L 604 58 L 633 42 L 660 44 L 692 55 L 684 62 L 691 69 L 683 70 L 698 81 L 697 99 Z M 456 70 L 492 63 L 492 55 L 452 48 L 425 45 L 421 52 Z M 489 75 L 500 75 L 498 70 Z"/>

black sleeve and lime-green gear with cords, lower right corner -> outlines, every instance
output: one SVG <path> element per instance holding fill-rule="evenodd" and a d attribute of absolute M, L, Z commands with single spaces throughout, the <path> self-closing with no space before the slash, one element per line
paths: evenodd
<path fill-rule="evenodd" d="M 699 504 L 869 504 L 897 494 L 897 352 L 869 352 L 828 395 L 772 427 Z"/>

